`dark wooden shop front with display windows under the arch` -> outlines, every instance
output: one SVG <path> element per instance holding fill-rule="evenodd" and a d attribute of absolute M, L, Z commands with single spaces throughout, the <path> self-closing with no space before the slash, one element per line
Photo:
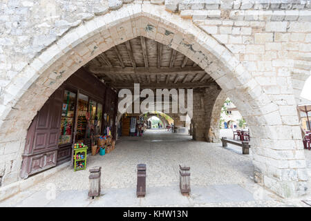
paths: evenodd
<path fill-rule="evenodd" d="M 83 69 L 70 76 L 32 120 L 22 155 L 21 177 L 73 159 L 73 144 L 91 146 L 110 131 L 115 140 L 117 94 Z"/>

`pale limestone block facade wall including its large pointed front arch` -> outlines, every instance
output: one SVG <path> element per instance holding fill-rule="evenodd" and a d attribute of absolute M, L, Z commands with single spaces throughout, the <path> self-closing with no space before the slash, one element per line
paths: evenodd
<path fill-rule="evenodd" d="M 8 0 L 0 9 L 2 184 L 19 180 L 27 128 L 53 91 L 142 35 L 195 61 L 236 104 L 251 131 L 256 182 L 284 197 L 307 191 L 296 99 L 310 75 L 310 1 Z"/>

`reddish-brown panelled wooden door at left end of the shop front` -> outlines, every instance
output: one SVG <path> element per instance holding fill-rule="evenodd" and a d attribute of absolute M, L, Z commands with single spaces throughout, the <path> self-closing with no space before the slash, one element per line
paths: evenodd
<path fill-rule="evenodd" d="M 22 178 L 56 166 L 63 94 L 63 88 L 58 88 L 28 128 L 22 155 Z"/>

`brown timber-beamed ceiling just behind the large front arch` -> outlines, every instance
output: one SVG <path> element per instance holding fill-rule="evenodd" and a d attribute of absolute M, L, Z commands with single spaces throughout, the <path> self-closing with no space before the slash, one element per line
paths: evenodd
<path fill-rule="evenodd" d="M 204 88 L 216 84 L 205 70 L 180 52 L 152 39 L 136 37 L 114 46 L 84 66 L 113 88 Z"/>

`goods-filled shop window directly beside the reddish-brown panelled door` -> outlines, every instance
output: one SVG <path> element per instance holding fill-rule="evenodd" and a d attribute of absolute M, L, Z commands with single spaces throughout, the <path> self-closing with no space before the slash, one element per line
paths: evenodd
<path fill-rule="evenodd" d="M 58 144 L 68 144 L 71 142 L 75 116 L 75 96 L 75 93 L 68 90 L 64 92 Z"/>

